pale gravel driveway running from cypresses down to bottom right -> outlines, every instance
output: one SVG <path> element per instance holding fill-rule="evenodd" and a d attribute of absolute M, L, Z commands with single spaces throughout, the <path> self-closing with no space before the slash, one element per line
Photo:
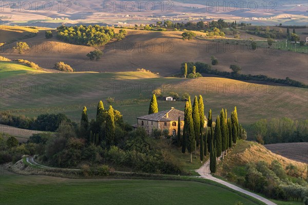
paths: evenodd
<path fill-rule="evenodd" d="M 209 179 L 209 180 L 212 180 L 212 181 L 216 181 L 217 183 L 221 183 L 222 185 L 224 185 L 226 187 L 229 187 L 229 188 L 236 190 L 238 192 L 242 192 L 246 195 L 252 196 L 252 197 L 268 204 L 268 205 L 277 205 L 276 203 L 274 203 L 274 202 L 272 202 L 272 201 L 270 201 L 270 200 L 268 200 L 268 199 L 266 199 L 262 196 L 254 194 L 252 192 L 248 192 L 246 190 L 243 190 L 242 188 L 239 188 L 235 185 L 232 185 L 231 183 L 228 183 L 226 181 L 223 181 L 221 179 L 218 179 L 218 178 L 212 176 L 210 174 L 210 171 L 209 171 L 209 160 L 207 160 L 202 167 L 200 167 L 198 170 L 196 170 L 196 172 L 198 172 L 200 174 L 201 178 L 205 178 L 205 179 Z"/>

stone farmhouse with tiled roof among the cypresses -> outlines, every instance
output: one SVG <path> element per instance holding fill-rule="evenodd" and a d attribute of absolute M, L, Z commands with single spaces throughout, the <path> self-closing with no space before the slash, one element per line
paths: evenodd
<path fill-rule="evenodd" d="M 169 130 L 169 135 L 176 136 L 178 133 L 178 120 L 180 117 L 181 132 L 184 127 L 184 112 L 175 108 L 164 110 L 161 112 L 144 115 L 137 117 L 137 124 L 133 125 L 134 128 L 142 127 L 150 135 L 154 128 L 161 130 Z M 205 117 L 205 116 L 204 116 Z M 204 127 L 207 126 L 207 118 L 204 118 Z"/>

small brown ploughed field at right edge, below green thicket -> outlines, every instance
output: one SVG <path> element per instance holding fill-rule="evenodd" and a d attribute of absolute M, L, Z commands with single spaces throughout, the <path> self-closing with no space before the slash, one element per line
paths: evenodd
<path fill-rule="evenodd" d="M 308 142 L 264 145 L 266 149 L 295 161 L 308 163 Z"/>

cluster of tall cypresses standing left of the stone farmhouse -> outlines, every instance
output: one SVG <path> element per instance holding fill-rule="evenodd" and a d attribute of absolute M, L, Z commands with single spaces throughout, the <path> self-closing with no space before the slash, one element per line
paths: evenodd
<path fill-rule="evenodd" d="M 109 148 L 112 145 L 114 135 L 115 135 L 115 124 L 114 124 L 114 110 L 110 105 L 108 110 L 104 109 L 104 104 L 102 100 L 100 100 L 98 107 L 97 107 L 97 114 L 95 118 L 95 122 L 99 127 L 104 126 L 105 124 L 105 136 L 99 136 L 99 133 L 92 133 L 90 131 L 88 142 L 94 145 L 99 145 L 102 138 L 106 140 L 106 146 Z M 87 108 L 84 107 L 81 115 L 81 122 L 80 122 L 80 131 L 81 135 L 84 138 L 87 138 L 88 134 L 88 127 L 89 127 L 89 120 L 87 115 Z"/>

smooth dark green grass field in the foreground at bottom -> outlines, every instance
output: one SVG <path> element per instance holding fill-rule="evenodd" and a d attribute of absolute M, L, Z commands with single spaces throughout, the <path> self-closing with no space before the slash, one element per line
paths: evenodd
<path fill-rule="evenodd" d="M 8 173 L 0 179 L 1 204 L 257 204 L 227 189 L 192 181 L 66 179 Z"/>

